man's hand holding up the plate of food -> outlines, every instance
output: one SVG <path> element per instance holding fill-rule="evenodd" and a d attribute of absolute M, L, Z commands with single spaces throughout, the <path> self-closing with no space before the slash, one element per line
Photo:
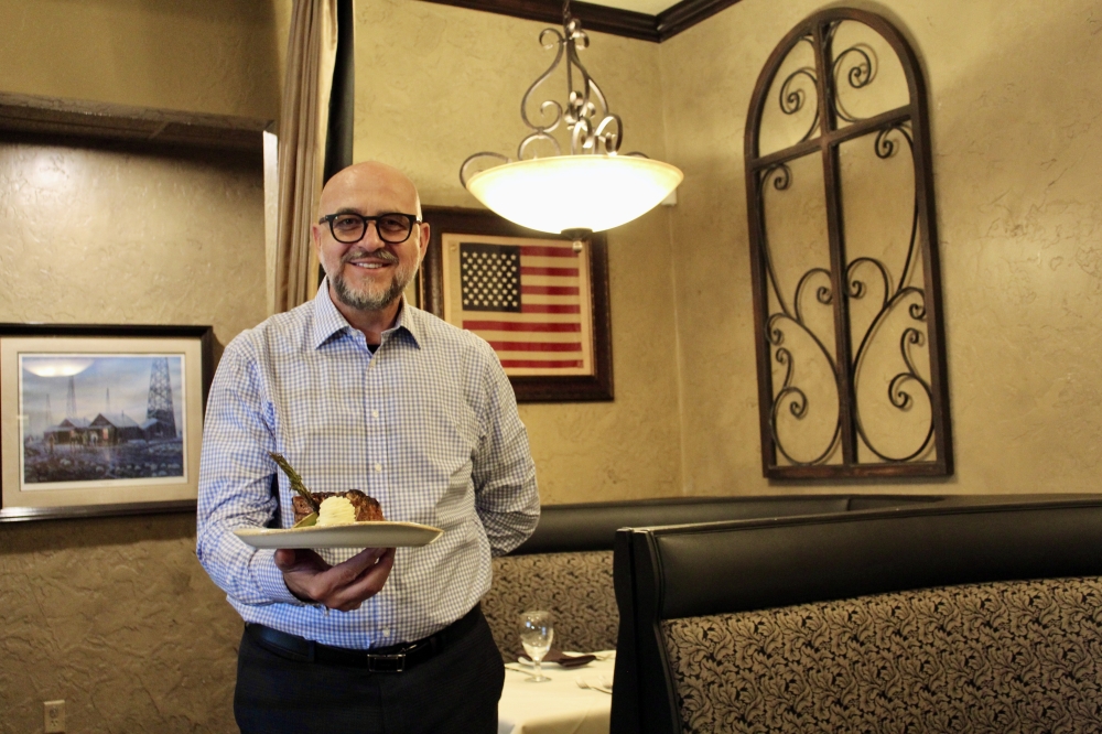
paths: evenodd
<path fill-rule="evenodd" d="M 365 600 L 382 591 L 393 564 L 393 548 L 367 548 L 336 565 L 312 550 L 276 551 L 276 565 L 292 594 L 341 612 L 358 609 Z"/>

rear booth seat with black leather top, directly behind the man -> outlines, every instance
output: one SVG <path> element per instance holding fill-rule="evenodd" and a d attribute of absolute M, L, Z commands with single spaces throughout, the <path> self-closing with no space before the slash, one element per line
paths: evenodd
<path fill-rule="evenodd" d="M 545 506 L 536 532 L 508 555 L 494 559 L 494 581 L 483 612 L 506 660 L 522 654 L 519 615 L 555 614 L 554 647 L 616 647 L 619 614 L 613 585 L 616 530 L 626 527 L 838 514 L 940 501 L 927 495 L 810 495 L 663 498 Z"/>

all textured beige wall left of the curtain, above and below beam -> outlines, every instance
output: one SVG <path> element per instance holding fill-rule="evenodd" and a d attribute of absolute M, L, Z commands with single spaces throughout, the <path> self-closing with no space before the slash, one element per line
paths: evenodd
<path fill-rule="evenodd" d="M 273 118 L 268 3 L 0 0 L 0 91 Z M 285 13 L 283 13 L 285 15 Z M 279 22 L 277 18 L 274 22 Z M 264 316 L 259 160 L 0 141 L 0 321 Z M 230 732 L 240 620 L 192 515 L 0 526 L 0 732 Z"/>

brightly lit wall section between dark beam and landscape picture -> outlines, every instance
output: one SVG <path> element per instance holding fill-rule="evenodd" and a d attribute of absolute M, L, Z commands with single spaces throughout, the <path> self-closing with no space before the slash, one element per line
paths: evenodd
<path fill-rule="evenodd" d="M 259 159 L 0 145 L 0 320 L 213 324 L 264 316 Z"/>

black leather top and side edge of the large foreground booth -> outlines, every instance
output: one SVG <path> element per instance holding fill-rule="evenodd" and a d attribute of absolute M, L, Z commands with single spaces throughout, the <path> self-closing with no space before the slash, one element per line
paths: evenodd
<path fill-rule="evenodd" d="M 618 531 L 613 734 L 681 731 L 665 619 L 1102 575 L 1102 497 L 1001 499 Z"/>

